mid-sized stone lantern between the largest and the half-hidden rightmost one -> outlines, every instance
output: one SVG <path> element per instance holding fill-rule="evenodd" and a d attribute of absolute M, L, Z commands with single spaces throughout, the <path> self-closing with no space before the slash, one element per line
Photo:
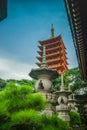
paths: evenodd
<path fill-rule="evenodd" d="M 71 94 L 71 92 L 66 91 L 64 89 L 63 74 L 61 74 L 60 91 L 56 91 L 55 93 L 58 96 L 58 105 L 56 106 L 56 111 L 58 112 L 58 116 L 65 121 L 70 121 L 68 96 Z"/>

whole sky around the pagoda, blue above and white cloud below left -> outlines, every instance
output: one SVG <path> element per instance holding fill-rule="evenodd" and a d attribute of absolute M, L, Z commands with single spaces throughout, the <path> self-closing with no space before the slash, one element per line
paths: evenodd
<path fill-rule="evenodd" d="M 8 0 L 8 16 L 0 22 L 0 78 L 31 79 L 38 41 L 61 34 L 69 68 L 78 66 L 64 0 Z"/>

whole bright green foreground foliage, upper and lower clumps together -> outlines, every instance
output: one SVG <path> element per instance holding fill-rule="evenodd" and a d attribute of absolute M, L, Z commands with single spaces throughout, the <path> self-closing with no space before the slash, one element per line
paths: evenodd
<path fill-rule="evenodd" d="M 0 91 L 0 130 L 71 130 L 57 116 L 40 114 L 46 100 L 28 85 L 8 82 Z"/>

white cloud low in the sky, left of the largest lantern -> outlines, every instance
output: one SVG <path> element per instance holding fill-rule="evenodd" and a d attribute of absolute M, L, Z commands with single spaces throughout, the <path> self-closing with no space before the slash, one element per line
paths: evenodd
<path fill-rule="evenodd" d="M 32 68 L 35 66 L 12 59 L 0 58 L 0 78 L 3 79 L 31 79 L 28 73 Z"/>

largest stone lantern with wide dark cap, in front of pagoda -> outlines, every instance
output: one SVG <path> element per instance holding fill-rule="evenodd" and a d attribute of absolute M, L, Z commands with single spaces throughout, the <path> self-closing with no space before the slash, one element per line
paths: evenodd
<path fill-rule="evenodd" d="M 44 113 L 53 114 L 53 103 L 56 101 L 55 94 L 52 94 L 52 80 L 59 74 L 56 69 L 49 69 L 46 63 L 46 48 L 43 46 L 43 57 L 40 68 L 32 69 L 29 75 L 36 79 L 35 91 L 40 92 L 47 100 L 48 107 Z"/>

